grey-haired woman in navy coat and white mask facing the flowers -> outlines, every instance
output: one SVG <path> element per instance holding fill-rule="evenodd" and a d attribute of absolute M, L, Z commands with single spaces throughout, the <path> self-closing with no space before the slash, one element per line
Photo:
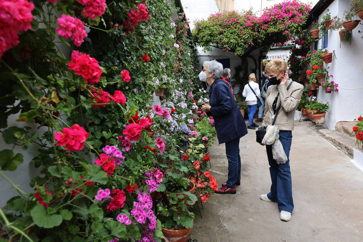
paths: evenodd
<path fill-rule="evenodd" d="M 199 74 L 209 90 L 209 104 L 203 103 L 202 111 L 211 112 L 220 144 L 225 143 L 228 159 L 228 180 L 215 190 L 220 194 L 236 194 L 236 185 L 241 184 L 240 138 L 247 134 L 246 123 L 229 89 L 229 83 L 221 79 L 223 66 L 216 60 L 205 61 Z"/>

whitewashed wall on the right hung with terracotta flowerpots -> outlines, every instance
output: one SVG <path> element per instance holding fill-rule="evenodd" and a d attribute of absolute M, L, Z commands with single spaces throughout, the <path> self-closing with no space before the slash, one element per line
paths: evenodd
<path fill-rule="evenodd" d="M 342 17 L 343 11 L 349 7 L 348 2 L 350 0 L 335 0 L 328 7 L 331 16 Z M 325 11 L 319 16 L 319 19 L 323 15 L 325 15 Z M 329 53 L 334 51 L 335 54 L 333 54 L 333 62 L 323 63 L 323 65 L 326 68 L 330 67 L 329 75 L 334 77 L 329 81 L 338 83 L 339 91 L 326 94 L 324 89 L 319 87 L 317 95 L 318 98 L 328 99 L 331 102 L 330 110 L 325 117 L 327 126 L 331 129 L 334 129 L 335 124 L 339 121 L 352 121 L 363 114 L 363 39 L 361 38 L 362 33 L 358 33 L 358 30 L 363 31 L 362 24 L 352 30 L 352 44 L 342 42 L 342 48 L 339 48 L 339 30 L 328 30 L 327 50 Z M 321 40 L 318 46 L 321 46 Z"/>

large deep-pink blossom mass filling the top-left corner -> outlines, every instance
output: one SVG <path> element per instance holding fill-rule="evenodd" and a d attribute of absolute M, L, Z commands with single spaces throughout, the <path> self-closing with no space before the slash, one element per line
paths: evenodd
<path fill-rule="evenodd" d="M 0 58 L 19 44 L 19 31 L 32 28 L 34 4 L 26 0 L 0 1 Z"/>

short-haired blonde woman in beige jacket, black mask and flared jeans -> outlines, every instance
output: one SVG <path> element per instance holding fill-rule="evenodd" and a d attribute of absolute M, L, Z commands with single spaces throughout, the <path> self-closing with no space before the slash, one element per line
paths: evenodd
<path fill-rule="evenodd" d="M 286 73 L 286 62 L 283 59 L 273 59 L 265 68 L 265 73 L 269 75 L 269 86 L 265 100 L 265 112 L 262 126 L 272 124 L 276 114 L 276 109 L 281 102 L 281 108 L 276 116 L 275 125 L 279 128 L 282 146 L 287 156 L 284 164 L 277 164 L 272 156 L 271 145 L 266 145 L 267 157 L 270 165 L 271 190 L 268 194 L 262 194 L 260 198 L 265 201 L 277 202 L 280 209 L 280 219 L 289 221 L 291 212 L 294 209 L 292 196 L 292 182 L 290 172 L 289 153 L 292 140 L 292 130 L 294 129 L 294 114 L 300 102 L 303 85 L 293 82 Z M 292 83 L 291 83 L 292 82 Z M 291 86 L 289 87 L 291 83 Z M 289 90 L 287 90 L 289 87 Z"/>

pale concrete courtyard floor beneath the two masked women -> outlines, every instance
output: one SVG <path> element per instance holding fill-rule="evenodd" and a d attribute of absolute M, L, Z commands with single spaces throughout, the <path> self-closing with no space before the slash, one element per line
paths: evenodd
<path fill-rule="evenodd" d="M 277 203 L 262 201 L 271 186 L 266 148 L 248 130 L 241 138 L 237 194 L 213 194 L 195 206 L 191 233 L 198 242 L 363 241 L 363 172 L 350 158 L 306 126 L 295 126 L 290 151 L 294 211 L 280 220 Z M 228 161 L 224 144 L 210 148 L 211 174 L 222 184 Z M 199 201 L 199 207 L 200 201 Z"/>

